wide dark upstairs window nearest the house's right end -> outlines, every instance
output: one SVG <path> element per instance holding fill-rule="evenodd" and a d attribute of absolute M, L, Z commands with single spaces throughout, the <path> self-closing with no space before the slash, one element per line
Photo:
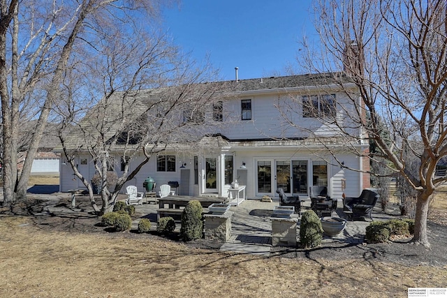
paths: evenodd
<path fill-rule="evenodd" d="M 335 117 L 335 94 L 302 96 L 302 117 Z"/>

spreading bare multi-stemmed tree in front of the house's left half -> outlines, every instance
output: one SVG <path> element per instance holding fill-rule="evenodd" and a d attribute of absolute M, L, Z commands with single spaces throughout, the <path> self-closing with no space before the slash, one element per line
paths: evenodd
<path fill-rule="evenodd" d="M 56 110 L 64 158 L 103 214 L 151 156 L 166 149 L 197 151 L 200 140 L 223 125 L 212 110 L 226 84 L 208 82 L 217 80 L 217 71 L 206 61 L 191 61 L 158 31 L 112 31 L 95 51 L 95 59 L 66 71 L 64 100 Z M 78 168 L 79 156 L 90 156 L 101 177 L 101 204 L 91 177 Z M 109 188 L 108 172 L 116 163 L 123 171 Z"/>

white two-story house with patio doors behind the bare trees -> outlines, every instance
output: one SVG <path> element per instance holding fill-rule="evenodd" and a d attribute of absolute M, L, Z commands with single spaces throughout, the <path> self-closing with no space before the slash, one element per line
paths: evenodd
<path fill-rule="evenodd" d="M 279 187 L 287 194 L 306 197 L 309 186 L 328 186 L 332 198 L 342 198 L 343 193 L 357 196 L 369 187 L 369 174 L 365 172 L 369 170 L 369 159 L 365 157 L 369 144 L 361 128 L 353 126 L 351 133 L 357 137 L 348 140 L 339 134 L 337 126 L 322 121 L 329 115 L 348 119 L 346 113 L 357 111 L 349 100 L 349 96 L 358 94 L 356 85 L 343 73 L 225 83 L 231 88 L 214 103 L 211 117 L 228 125 L 201 135 L 200 142 L 194 144 L 200 150 L 179 150 L 167 144 L 127 184 L 144 191 L 143 182 L 152 177 L 157 186 L 177 181 L 179 188 L 175 190 L 180 195 L 228 197 L 228 189 L 237 180 L 246 186 L 249 199 L 265 195 L 277 198 L 275 191 Z M 156 98 L 157 92 L 143 91 L 138 96 Z M 134 105 L 122 117 L 136 117 L 138 110 L 144 112 L 145 105 Z M 354 154 L 352 149 L 365 155 Z M 116 154 L 115 161 L 120 160 L 119 149 L 108 154 Z M 131 167 L 136 164 L 130 162 Z M 78 151 L 77 165 L 85 177 L 94 175 L 87 151 Z M 118 176 L 122 173 L 122 163 L 112 167 Z M 68 165 L 61 163 L 60 173 L 61 191 L 85 188 Z"/>

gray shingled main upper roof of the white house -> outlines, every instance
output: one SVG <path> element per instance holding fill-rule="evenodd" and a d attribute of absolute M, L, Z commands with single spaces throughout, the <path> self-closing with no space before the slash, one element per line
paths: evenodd
<path fill-rule="evenodd" d="M 88 138 L 90 144 L 94 144 L 98 137 L 101 125 L 106 125 L 105 139 L 115 135 L 117 131 L 138 130 L 138 122 L 146 117 L 147 112 L 152 110 L 151 105 L 163 106 L 165 100 L 177 98 L 179 93 L 186 96 L 203 96 L 204 92 L 214 92 L 216 94 L 233 93 L 240 91 L 256 91 L 264 89 L 284 89 L 294 87 L 315 87 L 328 86 L 331 84 L 350 83 L 349 77 L 343 73 L 322 73 L 312 75 L 290 75 L 283 77 L 263 77 L 249 80 L 235 80 L 208 82 L 203 84 L 191 84 L 179 87 L 168 87 L 159 89 L 145 89 L 138 91 L 117 91 L 108 98 L 103 98 L 93 107 L 80 121 L 81 127 L 88 127 L 86 134 L 81 129 L 75 128 L 68 134 L 66 145 L 75 149 L 85 143 Z M 169 105 L 169 103 L 168 103 Z M 125 119 L 125 121 L 123 121 Z M 155 118 L 154 118 L 155 119 Z M 149 125 L 151 124 L 150 120 Z M 137 127 L 137 128 L 135 128 Z M 175 127 L 171 127 L 174 128 Z M 150 128 L 149 128 L 150 129 Z M 102 131 L 104 131 L 102 129 Z M 147 128 L 146 128 L 147 131 Z M 160 136 L 163 138 L 163 135 Z M 161 140 L 161 139 L 157 139 Z M 163 140 L 161 140 L 163 142 Z M 170 140 L 166 140 L 169 143 Z M 57 148 L 61 149 L 61 147 Z"/>

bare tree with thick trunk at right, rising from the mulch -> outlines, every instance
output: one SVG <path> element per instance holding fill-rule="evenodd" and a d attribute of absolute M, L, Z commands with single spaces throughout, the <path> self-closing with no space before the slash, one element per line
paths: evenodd
<path fill-rule="evenodd" d="M 430 246 L 430 196 L 446 181 L 434 177 L 437 163 L 447 154 L 446 5 L 431 0 L 318 1 L 320 43 L 312 48 L 305 41 L 300 57 L 308 71 L 330 72 L 332 82 L 350 80 L 357 87 L 339 84 L 351 105 L 338 104 L 337 117 L 325 117 L 324 125 L 346 140 L 373 140 L 377 156 L 390 161 L 390 170 L 417 191 L 413 241 L 425 246 Z M 366 114 L 371 121 L 365 121 Z M 379 119 L 385 121 L 389 137 L 381 135 Z M 405 150 L 420 161 L 416 172 L 406 166 Z"/>

